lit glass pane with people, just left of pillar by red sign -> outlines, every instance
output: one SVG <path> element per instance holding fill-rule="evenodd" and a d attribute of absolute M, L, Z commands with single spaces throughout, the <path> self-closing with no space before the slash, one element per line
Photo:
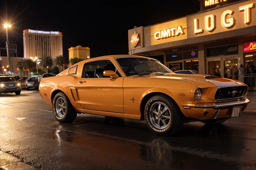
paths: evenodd
<path fill-rule="evenodd" d="M 224 77 L 238 80 L 237 59 L 224 61 Z"/>

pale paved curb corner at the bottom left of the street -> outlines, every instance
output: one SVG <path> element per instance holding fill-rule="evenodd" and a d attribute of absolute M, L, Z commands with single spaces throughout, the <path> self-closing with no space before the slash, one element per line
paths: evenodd
<path fill-rule="evenodd" d="M 38 168 L 33 167 L 32 165 L 26 164 L 21 159 L 0 150 L 0 170 L 9 170 L 9 169 L 38 170 Z"/>

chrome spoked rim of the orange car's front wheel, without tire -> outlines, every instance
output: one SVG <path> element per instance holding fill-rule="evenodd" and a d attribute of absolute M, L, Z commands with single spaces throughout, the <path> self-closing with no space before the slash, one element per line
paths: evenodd
<path fill-rule="evenodd" d="M 156 102 L 150 107 L 149 119 L 154 128 L 165 129 L 171 125 L 171 111 L 164 103 Z"/>

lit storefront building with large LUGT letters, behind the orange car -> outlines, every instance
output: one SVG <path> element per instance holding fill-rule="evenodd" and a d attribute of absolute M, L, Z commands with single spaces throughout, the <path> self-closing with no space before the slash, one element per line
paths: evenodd
<path fill-rule="evenodd" d="M 243 64 L 245 74 L 256 73 L 255 4 L 256 0 L 201 0 L 196 14 L 128 30 L 129 54 L 162 56 L 173 71 L 234 78 Z M 249 86 L 256 87 L 255 81 Z"/>

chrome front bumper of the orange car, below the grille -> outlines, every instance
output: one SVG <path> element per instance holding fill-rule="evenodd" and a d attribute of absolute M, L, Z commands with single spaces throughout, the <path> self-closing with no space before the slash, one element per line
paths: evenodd
<path fill-rule="evenodd" d="M 219 109 L 229 109 L 234 106 L 243 106 L 247 105 L 251 101 L 244 97 L 243 99 L 238 99 L 238 100 L 232 100 L 232 101 L 223 101 L 223 102 L 215 102 L 215 103 L 184 103 L 182 107 L 184 109 L 189 109 L 189 108 L 212 108 L 215 110 Z"/>

